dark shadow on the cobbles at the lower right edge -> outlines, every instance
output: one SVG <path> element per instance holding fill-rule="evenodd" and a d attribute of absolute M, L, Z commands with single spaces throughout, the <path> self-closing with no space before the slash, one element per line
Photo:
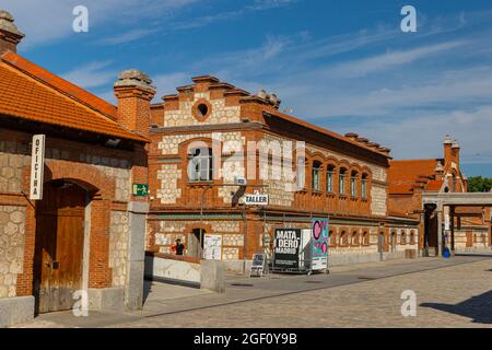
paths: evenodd
<path fill-rule="evenodd" d="M 472 318 L 472 322 L 477 324 L 492 324 L 492 291 L 470 298 L 456 305 L 422 303 L 420 306 Z"/>

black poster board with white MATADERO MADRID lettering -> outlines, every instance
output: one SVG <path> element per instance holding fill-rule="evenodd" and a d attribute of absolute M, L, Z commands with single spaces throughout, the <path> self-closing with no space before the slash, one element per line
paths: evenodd
<path fill-rule="evenodd" d="M 276 269 L 298 269 L 301 229 L 277 229 L 273 266 Z"/>

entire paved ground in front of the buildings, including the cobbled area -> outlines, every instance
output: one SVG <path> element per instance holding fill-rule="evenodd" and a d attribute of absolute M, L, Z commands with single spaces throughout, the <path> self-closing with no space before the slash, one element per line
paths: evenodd
<path fill-rule="evenodd" d="M 154 284 L 125 315 L 43 315 L 32 327 L 492 327 L 492 259 L 395 260 L 330 275 L 230 277 L 225 294 Z M 401 292 L 417 317 L 401 316 Z"/>

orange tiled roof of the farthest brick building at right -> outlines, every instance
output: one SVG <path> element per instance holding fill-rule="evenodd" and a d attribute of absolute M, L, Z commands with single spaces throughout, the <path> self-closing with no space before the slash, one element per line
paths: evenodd
<path fill-rule="evenodd" d="M 438 160 L 411 160 L 389 162 L 389 194 L 411 195 L 413 188 L 426 185 L 434 177 Z"/>

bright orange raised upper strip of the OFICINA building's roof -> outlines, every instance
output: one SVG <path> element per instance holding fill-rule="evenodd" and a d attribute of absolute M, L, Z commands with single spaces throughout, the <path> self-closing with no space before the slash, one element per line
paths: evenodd
<path fill-rule="evenodd" d="M 104 117 L 115 121 L 117 119 L 117 108 L 107 101 L 90 93 L 89 91 L 65 80 L 63 78 L 42 68 L 40 66 L 27 60 L 26 58 L 7 51 L 0 57 L 0 60 L 23 71 L 32 78 L 51 86 L 52 89 L 66 94 L 80 104 L 98 112 Z"/>

